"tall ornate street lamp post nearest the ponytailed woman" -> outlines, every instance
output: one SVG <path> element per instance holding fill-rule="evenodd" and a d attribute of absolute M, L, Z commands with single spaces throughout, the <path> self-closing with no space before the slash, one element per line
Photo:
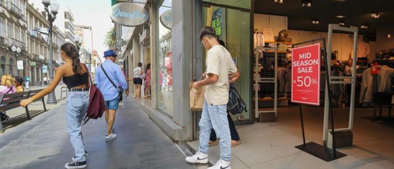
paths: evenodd
<path fill-rule="evenodd" d="M 59 4 L 56 2 L 56 0 L 52 0 L 52 3 L 50 0 L 43 0 L 42 2 L 45 7 L 46 15 L 48 16 L 48 21 L 49 21 L 49 83 L 52 82 L 53 80 L 53 48 L 52 48 L 52 26 L 53 22 L 56 19 L 56 14 L 58 14 L 59 10 Z M 49 8 L 51 11 L 49 11 Z M 56 100 L 55 96 L 55 91 L 51 92 L 48 95 L 48 99 L 46 100 L 46 103 L 48 104 L 56 104 L 58 101 Z"/>

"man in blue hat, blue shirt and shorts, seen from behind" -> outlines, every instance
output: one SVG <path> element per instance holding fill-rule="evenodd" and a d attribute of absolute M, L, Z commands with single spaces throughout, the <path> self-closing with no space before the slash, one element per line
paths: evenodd
<path fill-rule="evenodd" d="M 96 69 L 96 83 L 97 87 L 100 89 L 102 95 L 104 96 L 104 103 L 107 107 L 105 110 L 105 120 L 107 122 L 107 134 L 104 137 L 105 141 L 110 141 L 116 138 L 115 129 L 113 129 L 113 123 L 115 122 L 115 113 L 119 107 L 119 91 L 115 88 L 115 85 L 125 89 L 125 94 L 128 96 L 127 83 L 125 75 L 119 65 L 115 64 L 116 54 L 112 50 L 104 52 L 105 61 L 101 64 L 99 68 Z M 107 75 L 104 73 L 102 68 L 105 70 Z M 111 81 L 113 84 L 111 83 Z M 118 87 L 118 86 L 117 86 Z"/>

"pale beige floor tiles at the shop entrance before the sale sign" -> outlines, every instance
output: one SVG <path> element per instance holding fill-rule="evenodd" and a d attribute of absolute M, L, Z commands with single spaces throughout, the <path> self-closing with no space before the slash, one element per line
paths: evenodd
<path fill-rule="evenodd" d="M 298 135 L 279 130 L 271 125 L 255 123 L 238 126 L 242 144 L 232 148 L 232 169 L 392 169 L 394 159 L 365 160 L 348 155 L 325 162 L 294 146 L 302 144 Z M 199 141 L 188 142 L 198 150 Z M 353 147 L 361 150 L 361 148 Z M 352 151 L 357 151 L 352 150 Z M 340 148 L 349 154 L 349 148 Z M 210 146 L 209 161 L 219 160 L 219 146 Z M 360 151 L 360 153 L 362 150 Z"/>

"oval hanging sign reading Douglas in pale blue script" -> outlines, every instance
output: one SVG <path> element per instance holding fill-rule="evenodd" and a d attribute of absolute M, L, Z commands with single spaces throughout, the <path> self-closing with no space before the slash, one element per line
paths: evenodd
<path fill-rule="evenodd" d="M 138 4 L 122 2 L 111 7 L 110 17 L 123 26 L 138 26 L 148 21 L 149 13 Z"/>

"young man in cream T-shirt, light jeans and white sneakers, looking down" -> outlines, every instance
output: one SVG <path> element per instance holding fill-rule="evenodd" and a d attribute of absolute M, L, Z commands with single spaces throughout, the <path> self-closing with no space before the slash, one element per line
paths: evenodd
<path fill-rule="evenodd" d="M 200 32 L 200 40 L 208 50 L 206 56 L 205 79 L 193 83 L 193 88 L 206 86 L 203 113 L 199 122 L 199 151 L 186 161 L 191 163 L 208 163 L 208 149 L 211 129 L 219 137 L 220 160 L 208 169 L 231 169 L 231 137 L 227 119 L 227 102 L 229 101 L 229 79 L 238 76 L 237 68 L 229 51 L 219 44 L 215 30 L 205 26 Z"/>

